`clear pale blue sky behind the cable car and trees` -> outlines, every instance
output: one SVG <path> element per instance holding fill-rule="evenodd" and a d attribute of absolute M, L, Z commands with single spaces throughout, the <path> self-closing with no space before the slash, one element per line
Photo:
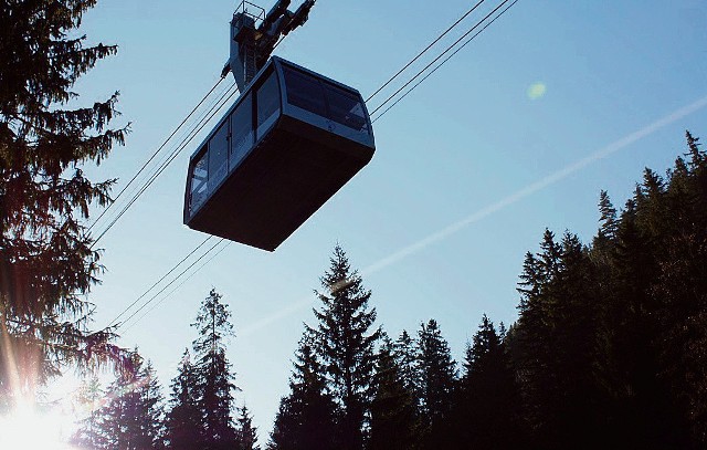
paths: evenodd
<path fill-rule="evenodd" d="M 497 1 L 486 3 L 479 13 Z M 367 96 L 472 4 L 319 0 L 276 54 Z M 76 90 L 84 102 L 119 90 L 116 125 L 133 124 L 126 147 L 91 170 L 96 179 L 124 186 L 213 85 L 234 8 L 103 0 L 86 14 L 89 41 L 116 43 L 119 53 Z M 194 338 L 199 303 L 215 287 L 238 334 L 229 350 L 238 402 L 265 442 L 302 324 L 313 323 L 313 290 L 340 242 L 389 334 L 434 317 L 461 357 L 482 314 L 515 320 L 524 253 L 546 227 L 588 242 L 600 189 L 620 206 L 644 167 L 664 172 L 684 151 L 686 128 L 707 139 L 705 23 L 703 0 L 520 0 L 376 123 L 371 164 L 277 251 L 229 245 L 119 343 L 138 345 L 168 386 Z M 187 163 L 202 137 L 101 241 L 107 271 L 91 296 L 96 326 L 203 240 L 182 224 Z"/>

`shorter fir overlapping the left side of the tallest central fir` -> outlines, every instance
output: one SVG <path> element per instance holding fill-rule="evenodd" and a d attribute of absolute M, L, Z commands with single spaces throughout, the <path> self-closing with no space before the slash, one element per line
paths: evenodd
<path fill-rule="evenodd" d="M 293 363 L 291 393 L 279 402 L 268 450 L 339 449 L 337 405 L 315 348 L 313 333 L 305 332 Z"/>

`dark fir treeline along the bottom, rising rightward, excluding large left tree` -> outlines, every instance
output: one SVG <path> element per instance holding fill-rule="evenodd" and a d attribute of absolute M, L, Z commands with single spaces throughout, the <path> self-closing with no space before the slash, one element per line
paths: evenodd
<path fill-rule="evenodd" d="M 601 192 L 599 211 L 590 243 L 545 231 L 525 255 L 517 322 L 506 329 L 484 315 L 458 363 L 434 320 L 392 337 L 377 325 L 371 292 L 337 245 L 263 447 L 704 449 L 707 156 L 698 140 L 687 133 L 687 153 L 665 176 L 646 169 L 623 208 Z M 247 409 L 231 418 L 228 314 L 212 292 L 167 412 L 156 408 L 147 365 L 138 381 L 109 389 L 78 437 L 118 439 L 127 420 L 120 432 L 134 429 L 145 443 L 96 448 L 257 448 Z M 130 417 L 143 425 L 130 428 Z"/>

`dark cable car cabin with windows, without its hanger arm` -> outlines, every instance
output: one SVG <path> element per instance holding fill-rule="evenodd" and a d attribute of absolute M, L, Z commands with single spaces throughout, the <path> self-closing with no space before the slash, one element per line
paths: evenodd
<path fill-rule="evenodd" d="M 273 251 L 374 149 L 358 91 L 273 56 L 191 156 L 184 223 Z"/>

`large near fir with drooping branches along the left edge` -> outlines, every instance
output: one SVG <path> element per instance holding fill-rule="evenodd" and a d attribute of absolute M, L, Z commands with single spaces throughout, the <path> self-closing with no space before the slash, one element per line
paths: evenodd
<path fill-rule="evenodd" d="M 91 333 L 87 294 L 101 272 L 86 229 L 94 182 L 126 128 L 112 129 L 117 94 L 87 107 L 76 81 L 116 46 L 86 45 L 78 27 L 96 0 L 10 0 L 0 7 L 0 411 L 63 365 L 102 363 L 116 348 Z"/>

